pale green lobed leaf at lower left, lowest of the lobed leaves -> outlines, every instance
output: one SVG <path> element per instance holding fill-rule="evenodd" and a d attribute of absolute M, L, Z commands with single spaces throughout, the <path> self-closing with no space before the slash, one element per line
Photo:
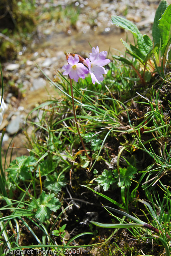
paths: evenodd
<path fill-rule="evenodd" d="M 36 209 L 35 217 L 38 218 L 40 222 L 50 219 L 52 211 L 56 212 L 61 207 L 59 199 L 57 199 L 53 193 L 46 195 L 46 193 L 42 191 L 38 199 L 35 199 L 34 197 L 31 199 L 32 202 L 28 209 Z"/>

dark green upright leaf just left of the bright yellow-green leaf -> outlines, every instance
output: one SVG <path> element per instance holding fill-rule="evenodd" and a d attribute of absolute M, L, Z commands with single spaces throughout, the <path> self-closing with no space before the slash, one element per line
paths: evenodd
<path fill-rule="evenodd" d="M 167 7 L 168 7 L 167 1 L 163 0 L 160 2 L 159 6 L 156 10 L 154 23 L 153 23 L 153 27 L 152 27 L 152 36 L 153 36 L 154 44 L 159 44 L 159 45 L 162 44 L 162 37 L 161 37 L 160 29 L 159 29 L 158 25 L 159 25 L 159 19 L 162 18 L 162 15 Z"/>

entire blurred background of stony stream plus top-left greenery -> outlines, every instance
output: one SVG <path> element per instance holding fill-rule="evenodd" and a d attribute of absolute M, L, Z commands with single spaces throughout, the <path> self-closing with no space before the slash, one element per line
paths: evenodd
<path fill-rule="evenodd" d="M 16 150 L 19 155 L 27 154 L 21 131 L 28 113 L 43 100 L 59 97 L 36 64 L 50 79 L 58 81 L 57 70 L 62 71 L 66 64 L 65 52 L 89 57 L 91 46 L 98 45 L 112 59 L 112 54 L 124 53 L 120 39 L 133 41 L 133 38 L 113 25 L 111 16 L 123 16 L 134 22 L 142 34 L 151 36 L 159 3 L 154 0 L 0 0 L 0 61 L 4 100 L 8 105 L 0 125 L 0 130 L 7 126 L 4 150 L 18 133 L 13 140 Z"/>

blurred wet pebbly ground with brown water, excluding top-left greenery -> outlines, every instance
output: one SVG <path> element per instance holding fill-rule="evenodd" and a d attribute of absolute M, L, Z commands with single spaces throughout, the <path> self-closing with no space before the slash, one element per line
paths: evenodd
<path fill-rule="evenodd" d="M 16 147 L 13 150 L 13 157 L 15 152 L 18 155 L 28 154 L 27 148 L 23 146 L 26 145 L 25 136 L 21 133 L 28 113 L 51 96 L 59 97 L 59 92 L 48 83 L 36 64 L 53 80 L 58 76 L 57 70 L 62 71 L 61 67 L 66 64 L 64 52 L 89 56 L 90 45 L 92 47 L 98 45 L 100 51 L 110 49 L 109 58 L 112 59 L 112 54 L 121 54 L 116 52 L 116 49 L 124 52 L 120 38 L 125 40 L 127 34 L 112 25 L 111 16 L 124 16 L 135 22 L 143 34 L 151 35 L 159 2 L 152 0 L 38 1 L 37 11 L 40 18 L 33 31 L 32 42 L 20 49 L 15 61 L 2 65 L 5 88 L 8 88 L 4 94 L 8 110 L 0 126 L 0 130 L 7 126 L 3 142 L 4 151 L 17 132 L 18 135 L 13 140 Z M 58 7 L 59 4 L 61 9 Z M 71 17 L 79 12 L 77 21 L 72 26 L 70 19 L 63 16 L 63 10 L 68 6 L 74 10 Z M 51 12 L 53 12 L 52 19 L 49 16 Z M 132 37 L 129 38 L 133 40 Z"/>

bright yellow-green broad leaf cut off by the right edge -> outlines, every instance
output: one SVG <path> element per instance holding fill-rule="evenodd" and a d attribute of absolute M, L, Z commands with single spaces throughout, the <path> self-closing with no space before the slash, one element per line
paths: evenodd
<path fill-rule="evenodd" d="M 165 48 L 170 45 L 168 41 L 171 38 L 171 4 L 167 7 L 162 18 L 159 20 L 160 35 L 162 37 L 162 53 L 164 53 Z M 167 45 L 168 44 L 168 45 Z"/>

